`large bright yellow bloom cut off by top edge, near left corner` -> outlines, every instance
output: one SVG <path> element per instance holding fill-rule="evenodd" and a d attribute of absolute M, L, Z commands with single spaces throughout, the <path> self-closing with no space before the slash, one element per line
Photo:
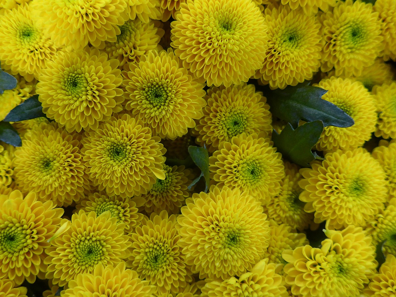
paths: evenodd
<path fill-rule="evenodd" d="M 103 41 L 115 42 L 128 20 L 125 0 L 32 2 L 36 19 L 57 46 L 81 50 L 88 42 L 97 47 Z"/>

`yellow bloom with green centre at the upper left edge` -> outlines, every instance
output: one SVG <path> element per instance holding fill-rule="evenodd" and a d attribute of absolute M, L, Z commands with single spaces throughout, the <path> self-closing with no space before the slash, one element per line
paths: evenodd
<path fill-rule="evenodd" d="M 38 79 L 58 49 L 43 27 L 32 20 L 30 6 L 23 4 L 6 11 L 0 18 L 0 28 L 1 67 L 21 74 L 29 82 Z"/>

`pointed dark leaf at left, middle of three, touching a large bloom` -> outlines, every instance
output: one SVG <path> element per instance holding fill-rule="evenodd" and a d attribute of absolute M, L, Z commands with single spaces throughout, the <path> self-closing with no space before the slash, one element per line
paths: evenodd
<path fill-rule="evenodd" d="M 38 95 L 34 95 L 11 110 L 4 120 L 6 122 L 19 122 L 40 117 L 46 117 L 46 114 L 43 113 Z"/>

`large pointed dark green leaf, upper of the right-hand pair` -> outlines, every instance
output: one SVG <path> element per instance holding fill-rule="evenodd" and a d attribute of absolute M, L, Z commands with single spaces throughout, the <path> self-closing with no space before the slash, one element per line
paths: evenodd
<path fill-rule="evenodd" d="M 323 126 L 350 127 L 354 120 L 333 103 L 323 100 L 322 95 L 327 91 L 300 84 L 283 90 L 265 91 L 267 102 L 274 116 L 289 122 L 297 128 L 299 120 L 307 122 L 321 120 Z"/>

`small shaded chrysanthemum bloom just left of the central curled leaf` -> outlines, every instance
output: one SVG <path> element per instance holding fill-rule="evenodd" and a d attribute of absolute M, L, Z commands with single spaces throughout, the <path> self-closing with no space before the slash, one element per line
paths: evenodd
<path fill-rule="evenodd" d="M 184 166 L 164 165 L 165 179 L 157 179 L 151 190 L 139 198 L 145 201 L 139 209 L 148 214 L 166 210 L 169 214 L 177 214 L 185 200 L 190 196 L 187 187 L 194 175 Z"/>

